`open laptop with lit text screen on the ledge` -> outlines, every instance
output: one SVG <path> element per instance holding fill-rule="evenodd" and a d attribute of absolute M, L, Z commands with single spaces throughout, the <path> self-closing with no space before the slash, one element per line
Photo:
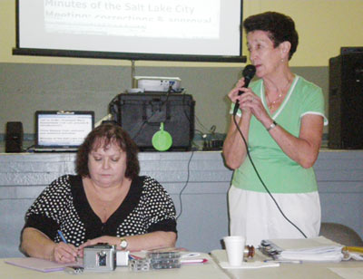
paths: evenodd
<path fill-rule="evenodd" d="M 35 111 L 34 152 L 76 152 L 93 127 L 93 111 Z"/>

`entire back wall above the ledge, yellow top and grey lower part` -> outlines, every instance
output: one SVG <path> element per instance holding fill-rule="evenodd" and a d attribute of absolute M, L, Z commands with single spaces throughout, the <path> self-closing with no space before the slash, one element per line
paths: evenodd
<path fill-rule="evenodd" d="M 363 46 L 363 0 L 244 0 L 244 17 L 268 10 L 294 18 L 300 43 L 290 65 L 323 89 L 328 115 L 329 58 L 337 56 L 341 46 Z M 101 120 L 109 101 L 131 87 L 129 61 L 13 56 L 14 47 L 15 0 L 0 0 L 0 138 L 6 121 L 23 121 L 25 132 L 34 133 L 37 110 L 92 110 Z M 136 62 L 136 66 L 138 75 L 181 77 L 196 101 L 196 129 L 208 132 L 213 125 L 218 132 L 227 131 L 226 93 L 240 77 L 243 63 Z"/>

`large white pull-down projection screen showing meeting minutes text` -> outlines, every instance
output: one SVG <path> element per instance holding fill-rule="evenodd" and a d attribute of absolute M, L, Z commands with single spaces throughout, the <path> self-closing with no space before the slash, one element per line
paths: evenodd
<path fill-rule="evenodd" d="M 14 54 L 245 62 L 242 0 L 17 0 Z"/>

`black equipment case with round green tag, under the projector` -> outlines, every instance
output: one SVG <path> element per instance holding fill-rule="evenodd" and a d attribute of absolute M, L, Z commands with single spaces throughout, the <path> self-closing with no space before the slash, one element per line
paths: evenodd
<path fill-rule="evenodd" d="M 140 150 L 155 150 L 152 136 L 160 130 L 172 135 L 168 151 L 190 150 L 194 137 L 195 101 L 181 93 L 121 93 L 110 103 L 110 113 Z"/>

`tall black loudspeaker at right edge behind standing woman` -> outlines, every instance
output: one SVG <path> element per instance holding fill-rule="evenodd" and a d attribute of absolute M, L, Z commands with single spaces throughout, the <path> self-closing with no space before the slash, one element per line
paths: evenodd
<path fill-rule="evenodd" d="M 329 59 L 328 147 L 363 149 L 363 48 L 340 53 Z"/>

